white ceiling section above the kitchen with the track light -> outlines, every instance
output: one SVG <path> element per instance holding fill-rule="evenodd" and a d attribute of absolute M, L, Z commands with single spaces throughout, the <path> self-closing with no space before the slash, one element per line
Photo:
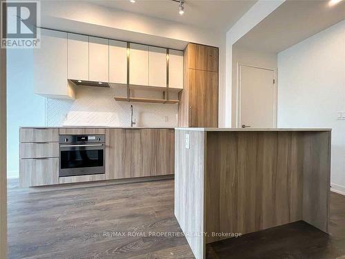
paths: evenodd
<path fill-rule="evenodd" d="M 172 0 L 87 0 L 90 3 L 134 12 L 149 17 L 184 23 L 189 26 L 226 31 L 257 0 L 185 0 L 185 13 L 179 15 L 179 3 Z"/>

